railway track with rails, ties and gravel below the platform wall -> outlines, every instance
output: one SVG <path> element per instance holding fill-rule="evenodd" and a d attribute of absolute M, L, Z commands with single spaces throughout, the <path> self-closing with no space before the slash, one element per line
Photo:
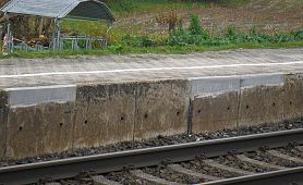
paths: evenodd
<path fill-rule="evenodd" d="M 0 184 L 303 184 L 302 144 L 300 128 L 12 165 Z"/>

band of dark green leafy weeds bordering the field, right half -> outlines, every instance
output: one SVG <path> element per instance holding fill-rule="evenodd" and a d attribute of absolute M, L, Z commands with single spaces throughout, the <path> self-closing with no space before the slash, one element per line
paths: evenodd
<path fill-rule="evenodd" d="M 195 18 L 192 22 L 196 22 Z M 303 30 L 279 34 L 262 34 L 255 28 L 244 33 L 238 30 L 234 26 L 227 27 L 225 35 L 209 36 L 207 30 L 199 27 L 190 27 L 189 30 L 179 29 L 169 36 L 170 46 L 225 46 L 239 44 L 281 44 L 290 41 L 302 41 Z"/>

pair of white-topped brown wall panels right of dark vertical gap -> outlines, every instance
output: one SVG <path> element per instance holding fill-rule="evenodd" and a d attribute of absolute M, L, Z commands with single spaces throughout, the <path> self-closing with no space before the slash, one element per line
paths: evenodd
<path fill-rule="evenodd" d="M 282 121 L 283 84 L 279 73 L 192 81 L 193 132 Z"/>

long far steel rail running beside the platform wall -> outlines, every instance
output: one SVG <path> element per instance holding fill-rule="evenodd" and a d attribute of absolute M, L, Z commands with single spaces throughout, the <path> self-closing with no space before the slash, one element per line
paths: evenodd
<path fill-rule="evenodd" d="M 232 150 L 244 152 L 263 146 L 282 147 L 291 141 L 303 144 L 303 128 L 5 166 L 0 168 L 0 184 L 29 184 L 47 176 L 68 178 L 82 171 L 107 173 L 128 165 L 140 168 L 157 165 L 165 160 L 189 161 L 199 155 L 210 158 Z"/>

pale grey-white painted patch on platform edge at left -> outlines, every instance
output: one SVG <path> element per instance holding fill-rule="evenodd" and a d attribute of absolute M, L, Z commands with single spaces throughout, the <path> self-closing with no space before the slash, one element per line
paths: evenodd
<path fill-rule="evenodd" d="M 21 108 L 43 103 L 64 103 L 76 100 L 76 85 L 5 88 L 9 107 Z"/>

